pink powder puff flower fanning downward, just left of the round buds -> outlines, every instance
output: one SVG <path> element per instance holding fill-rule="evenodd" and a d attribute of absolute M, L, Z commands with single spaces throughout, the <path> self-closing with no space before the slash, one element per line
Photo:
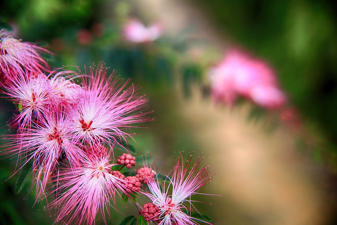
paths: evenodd
<path fill-rule="evenodd" d="M 91 147 L 93 148 L 93 147 Z M 102 150 L 101 147 L 99 149 Z M 111 206 L 110 200 L 115 202 L 116 191 L 127 194 L 127 181 L 112 175 L 110 164 L 111 152 L 96 155 L 90 150 L 88 157 L 80 165 L 59 171 L 55 176 L 57 182 L 56 200 L 48 205 L 56 207 L 56 223 L 94 224 L 97 213 L 102 214 L 105 221 L 105 212 Z M 119 171 L 118 171 L 119 172 Z M 66 190 L 66 191 L 64 191 Z"/>

